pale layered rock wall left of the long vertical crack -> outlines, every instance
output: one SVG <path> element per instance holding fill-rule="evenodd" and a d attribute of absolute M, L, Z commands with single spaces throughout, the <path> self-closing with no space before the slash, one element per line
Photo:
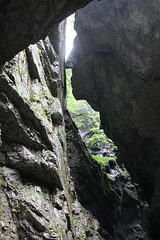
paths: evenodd
<path fill-rule="evenodd" d="M 64 27 L 1 69 L 1 239 L 74 236 L 61 105 Z"/>

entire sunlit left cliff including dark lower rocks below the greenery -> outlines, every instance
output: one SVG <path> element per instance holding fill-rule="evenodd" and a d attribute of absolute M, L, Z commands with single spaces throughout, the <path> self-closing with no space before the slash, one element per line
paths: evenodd
<path fill-rule="evenodd" d="M 64 28 L 1 68 L 1 239 L 147 240 L 139 188 L 101 169 L 64 109 Z"/>

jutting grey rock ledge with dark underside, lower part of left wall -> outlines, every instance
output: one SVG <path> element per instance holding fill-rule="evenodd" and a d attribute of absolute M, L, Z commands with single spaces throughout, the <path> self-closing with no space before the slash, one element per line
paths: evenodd
<path fill-rule="evenodd" d="M 6 162 L 3 165 L 13 168 L 16 166 L 16 169 L 27 176 L 62 188 L 56 158 L 51 151 L 34 152 L 24 146 L 15 145 L 6 150 Z"/>

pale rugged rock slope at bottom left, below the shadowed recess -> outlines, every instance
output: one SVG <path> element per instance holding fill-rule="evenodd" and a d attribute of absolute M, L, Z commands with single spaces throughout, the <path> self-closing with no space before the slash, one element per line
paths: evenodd
<path fill-rule="evenodd" d="M 67 211 L 63 211 L 64 191 L 57 191 L 31 182 L 19 171 L 3 167 L 3 190 L 1 191 L 2 239 L 59 239 L 67 232 Z M 2 172 L 1 172 L 2 174 Z M 59 231 L 56 233 L 55 229 Z M 66 237 L 67 239 L 67 237 Z"/>

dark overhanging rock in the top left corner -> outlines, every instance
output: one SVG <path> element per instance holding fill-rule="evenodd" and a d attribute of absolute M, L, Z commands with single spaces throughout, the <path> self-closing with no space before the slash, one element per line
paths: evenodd
<path fill-rule="evenodd" d="M 0 65 L 45 38 L 63 19 L 91 0 L 0 1 Z"/>

